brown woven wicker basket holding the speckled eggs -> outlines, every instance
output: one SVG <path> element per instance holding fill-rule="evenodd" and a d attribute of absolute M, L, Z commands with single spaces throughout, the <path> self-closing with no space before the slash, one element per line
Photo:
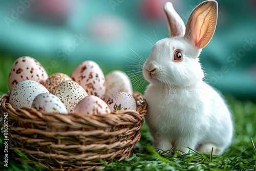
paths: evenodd
<path fill-rule="evenodd" d="M 8 95 L 3 95 L 0 114 L 4 117 L 4 113 L 8 113 L 9 149 L 17 148 L 42 167 L 53 170 L 100 169 L 103 168 L 102 160 L 109 163 L 112 158 L 129 158 L 140 139 L 147 108 L 141 94 L 135 92 L 134 98 L 137 111 L 90 116 L 41 114 L 33 108 L 12 108 Z M 28 122 L 31 128 L 20 127 L 17 121 Z M 38 124 L 47 125 L 55 131 L 38 129 Z M 22 160 L 21 157 L 15 159 Z"/>

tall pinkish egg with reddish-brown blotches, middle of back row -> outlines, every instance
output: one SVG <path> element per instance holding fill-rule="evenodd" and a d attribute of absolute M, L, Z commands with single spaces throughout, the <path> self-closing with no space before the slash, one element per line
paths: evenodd
<path fill-rule="evenodd" d="M 73 71 L 71 78 L 79 83 L 88 95 L 95 95 L 104 99 L 105 77 L 94 61 L 84 61 Z"/>

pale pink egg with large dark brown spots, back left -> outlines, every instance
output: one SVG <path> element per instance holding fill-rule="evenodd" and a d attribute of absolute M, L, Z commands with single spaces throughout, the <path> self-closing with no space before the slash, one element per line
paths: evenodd
<path fill-rule="evenodd" d="M 9 90 L 12 91 L 14 86 L 24 80 L 33 80 L 44 84 L 48 74 L 44 67 L 32 57 L 19 57 L 12 65 L 9 74 Z"/>

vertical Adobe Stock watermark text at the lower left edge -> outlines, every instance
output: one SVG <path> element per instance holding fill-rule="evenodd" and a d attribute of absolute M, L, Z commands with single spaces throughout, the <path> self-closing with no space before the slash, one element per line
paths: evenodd
<path fill-rule="evenodd" d="M 4 166 L 8 167 L 8 113 L 4 113 L 3 119 L 3 135 L 4 135 Z"/>

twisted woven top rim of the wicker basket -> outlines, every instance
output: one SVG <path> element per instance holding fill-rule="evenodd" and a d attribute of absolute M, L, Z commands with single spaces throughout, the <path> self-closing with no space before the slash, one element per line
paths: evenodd
<path fill-rule="evenodd" d="M 83 119 L 84 121 L 87 121 L 87 122 L 95 121 L 96 125 L 100 124 L 100 123 L 96 123 L 96 120 L 107 122 L 112 125 L 120 125 L 120 124 L 133 125 L 134 123 L 143 120 L 143 117 L 146 114 L 146 107 L 147 107 L 145 99 L 141 98 L 142 95 L 140 93 L 134 92 L 134 97 L 137 102 L 136 111 L 122 110 L 117 112 L 111 112 L 110 114 L 104 114 L 104 115 L 86 115 L 81 113 L 69 113 L 69 114 L 44 113 L 42 114 L 41 112 L 37 111 L 34 108 L 28 108 L 28 107 L 13 108 L 13 106 L 8 102 L 9 96 L 5 94 L 2 97 L 0 97 L 0 100 L 1 100 L 0 110 L 2 109 L 5 111 L 8 111 L 8 113 L 11 113 L 12 114 L 11 119 L 15 119 L 21 122 L 30 122 L 30 123 L 32 122 L 32 123 L 37 123 L 42 125 L 47 125 L 46 122 L 48 121 L 48 124 L 50 124 L 51 126 L 55 126 L 53 125 L 53 123 L 51 124 L 52 118 L 60 120 L 62 122 L 66 122 L 69 126 L 72 126 L 74 122 L 79 123 L 78 121 L 79 119 Z M 118 119 L 116 120 L 116 122 L 110 123 L 111 118 L 118 118 Z M 103 122 L 101 122 L 102 125 L 98 125 L 98 126 L 111 127 L 103 124 Z M 79 123 L 79 124 L 83 124 L 83 123 Z"/>

